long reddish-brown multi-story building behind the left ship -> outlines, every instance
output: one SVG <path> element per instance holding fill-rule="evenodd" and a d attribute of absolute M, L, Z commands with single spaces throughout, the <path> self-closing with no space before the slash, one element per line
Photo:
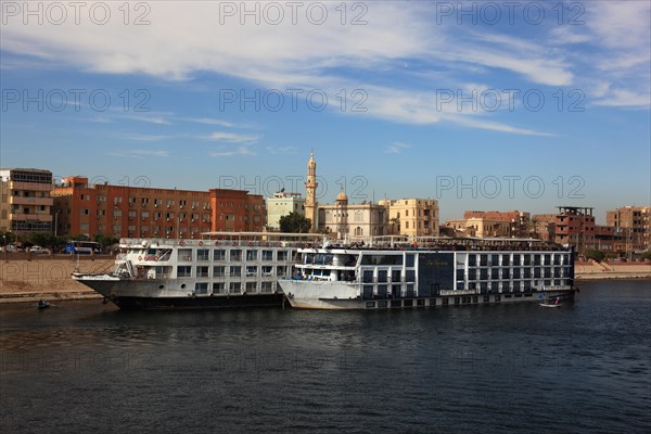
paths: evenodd
<path fill-rule="evenodd" d="M 207 231 L 261 230 L 264 197 L 242 190 L 189 191 L 88 183 L 68 177 L 52 191 L 59 233 L 199 238 Z"/>

